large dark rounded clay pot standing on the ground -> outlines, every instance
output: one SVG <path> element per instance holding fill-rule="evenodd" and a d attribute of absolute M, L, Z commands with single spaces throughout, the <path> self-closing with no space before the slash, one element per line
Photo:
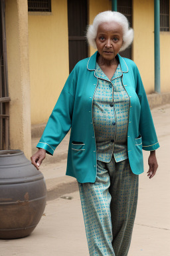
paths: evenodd
<path fill-rule="evenodd" d="M 26 237 L 46 205 L 44 177 L 20 150 L 0 151 L 0 239 Z"/>

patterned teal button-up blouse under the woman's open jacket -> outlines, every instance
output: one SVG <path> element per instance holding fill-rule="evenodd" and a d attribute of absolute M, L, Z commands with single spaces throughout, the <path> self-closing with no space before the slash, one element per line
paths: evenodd
<path fill-rule="evenodd" d="M 112 79 L 96 63 L 98 86 L 93 100 L 93 122 L 96 137 L 97 159 L 109 163 L 114 155 L 116 162 L 128 159 L 129 96 L 122 85 L 120 64 Z"/>

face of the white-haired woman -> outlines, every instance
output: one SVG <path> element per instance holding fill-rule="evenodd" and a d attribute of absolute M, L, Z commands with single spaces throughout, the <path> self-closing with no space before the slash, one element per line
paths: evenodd
<path fill-rule="evenodd" d="M 123 43 L 122 26 L 116 22 L 105 22 L 98 26 L 96 46 L 100 55 L 111 61 L 120 51 Z"/>

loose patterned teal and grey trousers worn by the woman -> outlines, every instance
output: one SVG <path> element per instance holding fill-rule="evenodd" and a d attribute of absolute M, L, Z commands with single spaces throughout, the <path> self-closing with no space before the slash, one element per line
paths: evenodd
<path fill-rule="evenodd" d="M 139 175 L 129 159 L 97 161 L 95 183 L 79 183 L 90 256 L 127 256 L 137 207 Z"/>

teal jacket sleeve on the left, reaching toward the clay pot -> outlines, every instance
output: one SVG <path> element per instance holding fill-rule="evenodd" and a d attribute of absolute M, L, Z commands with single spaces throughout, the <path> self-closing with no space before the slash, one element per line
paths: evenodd
<path fill-rule="evenodd" d="M 75 68 L 70 73 L 56 105 L 48 119 L 42 137 L 37 148 L 46 150 L 53 155 L 54 150 L 66 136 L 72 125 L 72 113 L 74 109 L 74 95 L 76 86 Z"/>

